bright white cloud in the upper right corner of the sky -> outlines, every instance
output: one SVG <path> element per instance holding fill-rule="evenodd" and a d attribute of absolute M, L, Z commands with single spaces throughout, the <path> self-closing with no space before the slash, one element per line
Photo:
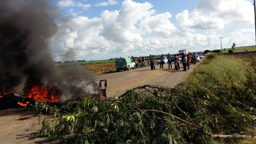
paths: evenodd
<path fill-rule="evenodd" d="M 220 30 L 234 23 L 253 23 L 254 9 L 246 0 L 199 0 L 193 12 L 184 10 L 176 20 L 190 29 Z"/>

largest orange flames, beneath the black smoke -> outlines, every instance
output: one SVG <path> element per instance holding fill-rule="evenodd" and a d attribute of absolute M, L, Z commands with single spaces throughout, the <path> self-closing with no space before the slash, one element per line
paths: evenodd
<path fill-rule="evenodd" d="M 44 101 L 44 102 L 57 102 L 59 101 L 59 97 L 62 94 L 62 91 L 59 87 L 52 87 L 49 89 L 48 86 L 40 87 L 40 86 L 32 86 L 30 90 L 27 91 L 27 98 L 33 98 L 36 101 Z"/>

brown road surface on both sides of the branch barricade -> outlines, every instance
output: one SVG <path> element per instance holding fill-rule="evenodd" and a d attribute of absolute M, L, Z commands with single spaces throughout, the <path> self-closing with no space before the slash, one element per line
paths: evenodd
<path fill-rule="evenodd" d="M 159 66 L 156 65 L 157 70 L 154 71 L 150 70 L 148 66 L 136 70 L 98 75 L 96 79 L 98 82 L 106 79 L 108 81 L 107 96 L 114 97 L 117 92 L 117 96 L 119 96 L 126 90 L 146 84 L 172 87 L 186 81 L 186 78 L 195 69 L 195 66 L 191 65 L 191 70 L 183 72 L 182 68 L 179 71 L 167 69 L 167 64 L 164 65 L 164 69 L 159 69 Z M 38 117 L 34 116 L 32 112 L 28 112 L 27 109 L 0 110 L 0 143 L 47 143 L 45 139 L 32 138 L 41 127 L 40 125 L 33 126 L 33 123 L 38 123 Z"/>

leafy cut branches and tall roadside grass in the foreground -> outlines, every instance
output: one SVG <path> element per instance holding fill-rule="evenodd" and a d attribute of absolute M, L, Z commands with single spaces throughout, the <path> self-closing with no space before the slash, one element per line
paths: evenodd
<path fill-rule="evenodd" d="M 37 102 L 35 112 L 48 115 L 40 117 L 38 136 L 66 143 L 242 142 L 232 136 L 252 136 L 256 129 L 252 57 L 208 53 L 175 88 L 146 85 L 113 99 Z"/>

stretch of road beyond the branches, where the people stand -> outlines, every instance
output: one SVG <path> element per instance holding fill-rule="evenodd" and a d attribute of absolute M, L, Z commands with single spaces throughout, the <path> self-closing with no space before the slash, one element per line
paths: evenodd
<path fill-rule="evenodd" d="M 182 64 L 181 70 L 174 71 L 168 69 L 168 64 L 164 64 L 163 69 L 159 69 L 160 65 L 155 65 L 156 70 L 151 70 L 150 66 L 138 69 L 131 69 L 130 71 L 120 71 L 108 74 L 97 75 L 96 80 L 107 80 L 108 88 L 106 90 L 107 97 L 120 96 L 126 90 L 143 86 L 143 85 L 159 85 L 173 87 L 177 84 L 185 82 L 189 74 L 198 65 L 191 64 L 190 70 L 183 72 Z M 172 64 L 174 68 L 174 64 Z"/>

